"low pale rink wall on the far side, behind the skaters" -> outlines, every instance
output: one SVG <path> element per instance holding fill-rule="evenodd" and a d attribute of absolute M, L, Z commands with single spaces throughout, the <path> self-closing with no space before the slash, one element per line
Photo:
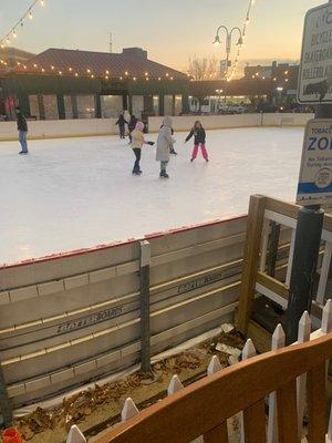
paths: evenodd
<path fill-rule="evenodd" d="M 188 131 L 195 120 L 200 120 L 207 130 L 226 130 L 232 127 L 264 126 L 304 126 L 313 114 L 241 114 L 241 115 L 186 115 L 173 117 L 175 131 Z M 115 135 L 118 133 L 115 119 L 86 120 L 46 120 L 29 122 L 29 138 L 65 138 L 98 135 Z M 159 131 L 163 117 L 149 117 L 151 133 Z M 18 138 L 15 122 L 0 123 L 0 141 Z"/>

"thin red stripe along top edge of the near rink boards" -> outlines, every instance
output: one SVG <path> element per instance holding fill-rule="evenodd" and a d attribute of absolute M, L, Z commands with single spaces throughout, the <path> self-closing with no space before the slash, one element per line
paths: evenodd
<path fill-rule="evenodd" d="M 173 229 L 151 233 L 151 234 L 145 235 L 144 238 L 147 239 L 147 240 L 148 239 L 154 239 L 154 238 L 160 238 L 160 237 L 164 237 L 166 235 L 184 233 L 184 231 L 197 229 L 199 227 L 215 226 L 215 225 L 227 223 L 227 222 L 231 222 L 231 220 L 245 219 L 246 217 L 247 217 L 247 214 L 239 215 L 239 216 L 232 216 L 232 217 L 218 218 L 218 219 L 214 219 L 214 220 L 210 220 L 210 222 L 205 222 L 205 223 L 201 223 L 201 224 L 195 224 L 195 225 L 189 225 L 189 226 L 183 226 L 183 227 L 179 227 L 179 228 L 173 228 Z M 110 244 L 96 245 L 96 246 L 93 246 L 91 248 L 74 249 L 74 250 L 70 250 L 70 251 L 66 251 L 66 253 L 51 254 L 49 256 L 39 257 L 39 258 L 30 258 L 30 259 L 27 259 L 27 260 L 21 260 L 21 261 L 17 261 L 17 262 L 12 262 L 12 264 L 3 264 L 3 265 L 0 265 L 0 270 L 17 268 L 17 267 L 21 267 L 21 266 L 33 265 L 33 264 L 39 264 L 39 262 L 58 260 L 58 259 L 61 259 L 61 258 L 75 257 L 75 256 L 80 256 L 80 255 L 84 255 L 84 254 L 95 253 L 95 251 L 103 250 L 103 249 L 117 248 L 120 246 L 134 244 L 134 243 L 138 241 L 139 239 L 141 239 L 139 237 L 138 238 L 128 238 L 126 240 L 117 240 L 117 241 L 112 241 Z"/>

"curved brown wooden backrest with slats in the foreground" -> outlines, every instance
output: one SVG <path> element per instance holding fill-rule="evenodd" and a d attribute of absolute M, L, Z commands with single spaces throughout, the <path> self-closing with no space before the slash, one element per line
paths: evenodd
<path fill-rule="evenodd" d="M 263 443 L 264 398 L 276 391 L 279 442 L 298 443 L 297 378 L 308 372 L 308 441 L 325 442 L 325 361 L 332 333 L 243 361 L 200 380 L 122 423 L 96 443 L 227 443 L 227 420 L 243 411 L 246 442 Z"/>

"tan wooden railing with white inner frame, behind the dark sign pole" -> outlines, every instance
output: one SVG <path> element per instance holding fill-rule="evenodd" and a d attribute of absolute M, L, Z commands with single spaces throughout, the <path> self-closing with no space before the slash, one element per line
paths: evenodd
<path fill-rule="evenodd" d="M 268 297 L 284 309 L 288 306 L 299 208 L 300 206 L 295 204 L 262 195 L 253 195 L 250 197 L 237 321 L 237 327 L 243 334 L 248 332 L 252 303 L 257 293 Z M 269 241 L 273 227 L 278 228 L 274 246 Z M 270 266 L 267 264 L 271 249 L 276 248 L 278 250 L 278 246 L 280 248 L 282 239 L 279 240 L 279 237 L 281 236 L 283 237 L 284 246 L 289 249 L 282 278 L 280 278 L 280 276 L 269 275 Z M 322 249 L 318 269 L 320 278 L 312 303 L 312 315 L 318 320 L 318 323 L 322 317 L 322 307 L 325 299 L 331 298 L 326 295 L 326 284 L 332 256 L 331 215 L 324 215 L 321 239 Z"/>

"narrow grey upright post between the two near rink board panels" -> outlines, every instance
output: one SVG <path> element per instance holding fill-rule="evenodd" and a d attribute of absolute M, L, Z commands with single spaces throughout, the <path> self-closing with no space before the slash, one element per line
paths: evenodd
<path fill-rule="evenodd" d="M 141 359 L 142 371 L 151 372 L 151 337 L 149 337 L 149 243 L 141 241 Z"/>

